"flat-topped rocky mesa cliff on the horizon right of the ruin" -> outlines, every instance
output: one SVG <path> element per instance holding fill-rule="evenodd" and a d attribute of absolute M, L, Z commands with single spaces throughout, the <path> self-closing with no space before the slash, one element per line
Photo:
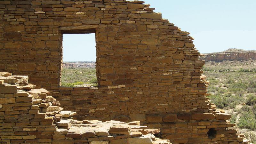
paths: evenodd
<path fill-rule="evenodd" d="M 223 60 L 256 60 L 256 51 L 244 51 L 241 49 L 228 49 L 223 52 L 206 53 L 200 60 L 223 61 Z"/>

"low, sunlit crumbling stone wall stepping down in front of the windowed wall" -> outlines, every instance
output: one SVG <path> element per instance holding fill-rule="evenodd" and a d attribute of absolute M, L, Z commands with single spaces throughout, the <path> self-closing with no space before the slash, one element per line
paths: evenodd
<path fill-rule="evenodd" d="M 148 129 L 138 121 L 74 120 L 76 112 L 62 111 L 47 90 L 32 89 L 28 76 L 0 76 L 1 144 L 171 144 L 155 136 L 160 129 Z"/>

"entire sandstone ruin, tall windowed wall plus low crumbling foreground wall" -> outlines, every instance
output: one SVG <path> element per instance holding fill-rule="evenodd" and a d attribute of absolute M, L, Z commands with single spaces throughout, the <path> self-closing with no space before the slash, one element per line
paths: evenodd
<path fill-rule="evenodd" d="M 149 6 L 1 0 L 0 71 L 21 75 L 1 73 L 1 143 L 248 143 L 205 97 L 189 32 Z M 99 85 L 62 87 L 62 34 L 81 33 L 95 33 Z"/>

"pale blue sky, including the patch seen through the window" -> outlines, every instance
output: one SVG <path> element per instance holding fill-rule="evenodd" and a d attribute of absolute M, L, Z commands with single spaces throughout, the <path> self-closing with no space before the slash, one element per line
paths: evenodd
<path fill-rule="evenodd" d="M 255 0 L 144 0 L 182 31 L 200 53 L 228 48 L 256 50 Z M 63 36 L 64 61 L 95 60 L 93 34 Z M 81 45 L 82 42 L 82 47 Z M 80 43 L 80 44 L 79 44 Z"/>

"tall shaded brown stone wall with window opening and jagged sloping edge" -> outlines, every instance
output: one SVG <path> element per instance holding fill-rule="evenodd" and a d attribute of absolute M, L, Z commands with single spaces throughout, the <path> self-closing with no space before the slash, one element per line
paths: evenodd
<path fill-rule="evenodd" d="M 193 38 L 143 3 L 0 1 L 0 70 L 28 75 L 77 120 L 140 120 L 172 143 L 239 143 L 230 116 L 205 98 Z M 59 86 L 62 33 L 92 31 L 99 86 Z"/>

